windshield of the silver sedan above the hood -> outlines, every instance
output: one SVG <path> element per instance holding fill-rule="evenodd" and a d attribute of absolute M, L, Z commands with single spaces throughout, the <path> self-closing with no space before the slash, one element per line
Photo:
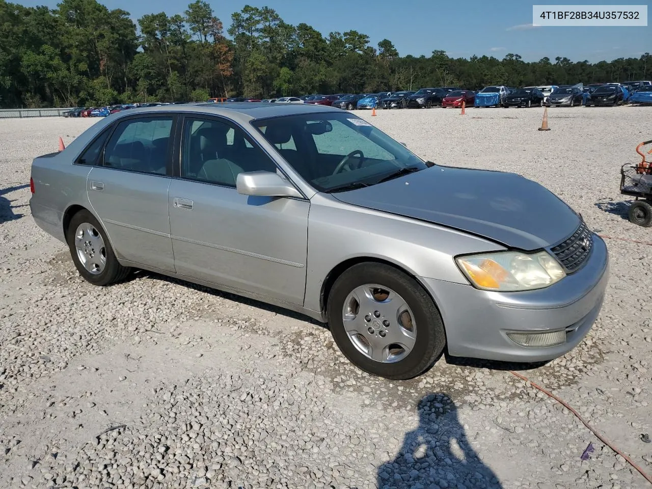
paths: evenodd
<path fill-rule="evenodd" d="M 375 185 L 399 170 L 427 168 L 402 144 L 350 113 L 286 115 L 252 125 L 319 192 Z"/>

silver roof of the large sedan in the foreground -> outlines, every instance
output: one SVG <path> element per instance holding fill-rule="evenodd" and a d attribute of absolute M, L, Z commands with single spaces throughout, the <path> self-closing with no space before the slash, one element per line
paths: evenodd
<path fill-rule="evenodd" d="M 136 108 L 124 112 L 124 114 L 126 117 L 127 114 L 132 116 L 139 113 L 157 112 L 196 113 L 197 115 L 214 114 L 222 115 L 235 121 L 248 122 L 254 119 L 267 119 L 267 117 L 279 117 L 282 115 L 320 112 L 341 113 L 342 110 L 314 104 L 274 105 L 268 102 L 198 102 L 196 104 Z"/>

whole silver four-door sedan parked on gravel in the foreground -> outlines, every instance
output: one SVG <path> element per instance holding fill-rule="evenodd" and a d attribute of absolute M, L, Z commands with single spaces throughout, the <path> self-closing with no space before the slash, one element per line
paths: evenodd
<path fill-rule="evenodd" d="M 453 356 L 545 361 L 597 318 L 604 242 L 541 185 L 424 161 L 312 104 L 194 104 L 99 121 L 35 158 L 38 226 L 108 286 L 147 269 L 327 322 L 408 379 Z"/>

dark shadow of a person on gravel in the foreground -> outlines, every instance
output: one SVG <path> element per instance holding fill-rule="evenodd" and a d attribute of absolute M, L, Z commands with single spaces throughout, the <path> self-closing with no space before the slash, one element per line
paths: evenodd
<path fill-rule="evenodd" d="M 378 467 L 379 489 L 503 488 L 471 448 L 447 394 L 424 396 L 417 411 L 417 429 L 406 434 L 394 460 Z"/>

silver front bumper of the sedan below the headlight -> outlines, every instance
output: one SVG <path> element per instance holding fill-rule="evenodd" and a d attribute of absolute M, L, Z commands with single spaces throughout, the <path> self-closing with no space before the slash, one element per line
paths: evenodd
<path fill-rule="evenodd" d="M 496 361 L 539 362 L 575 348 L 598 317 L 609 280 L 604 241 L 593 236 L 591 257 L 576 273 L 545 289 L 500 293 L 420 278 L 434 297 L 446 329 L 449 353 Z M 507 333 L 565 331 L 557 346 L 529 348 Z"/>

